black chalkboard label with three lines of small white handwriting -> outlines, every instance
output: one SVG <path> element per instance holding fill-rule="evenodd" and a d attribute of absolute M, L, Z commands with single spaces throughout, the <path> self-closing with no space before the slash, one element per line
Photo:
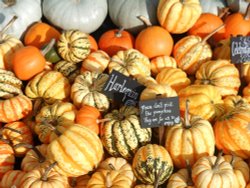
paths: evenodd
<path fill-rule="evenodd" d="M 180 123 L 178 97 L 140 101 L 139 110 L 142 128 L 172 126 Z"/>

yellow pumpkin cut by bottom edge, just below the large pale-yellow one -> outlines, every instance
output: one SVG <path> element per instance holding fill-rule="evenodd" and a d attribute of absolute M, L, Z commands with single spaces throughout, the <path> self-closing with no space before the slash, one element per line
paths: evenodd
<path fill-rule="evenodd" d="M 65 188 L 68 187 L 68 178 L 52 170 L 56 163 L 51 164 L 47 168 L 36 168 L 27 172 L 20 181 L 20 188 Z"/>

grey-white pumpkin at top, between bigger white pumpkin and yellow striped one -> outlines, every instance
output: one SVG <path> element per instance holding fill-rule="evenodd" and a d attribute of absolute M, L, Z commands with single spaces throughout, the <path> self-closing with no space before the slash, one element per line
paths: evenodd
<path fill-rule="evenodd" d="M 138 16 L 144 16 L 152 25 L 157 25 L 158 2 L 159 0 L 108 0 L 109 16 L 116 26 L 138 33 L 146 27 Z"/>

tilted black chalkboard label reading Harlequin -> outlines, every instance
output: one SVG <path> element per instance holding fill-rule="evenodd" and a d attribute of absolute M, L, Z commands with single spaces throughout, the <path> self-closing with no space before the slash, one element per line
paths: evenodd
<path fill-rule="evenodd" d="M 103 93 L 111 100 L 126 106 L 136 106 L 145 86 L 136 80 L 113 70 L 103 87 Z"/>

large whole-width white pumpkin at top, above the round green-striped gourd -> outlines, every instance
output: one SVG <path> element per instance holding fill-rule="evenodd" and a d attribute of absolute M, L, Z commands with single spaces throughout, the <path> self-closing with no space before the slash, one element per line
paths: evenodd
<path fill-rule="evenodd" d="M 43 14 L 64 30 L 96 31 L 108 14 L 107 0 L 43 0 Z"/>

